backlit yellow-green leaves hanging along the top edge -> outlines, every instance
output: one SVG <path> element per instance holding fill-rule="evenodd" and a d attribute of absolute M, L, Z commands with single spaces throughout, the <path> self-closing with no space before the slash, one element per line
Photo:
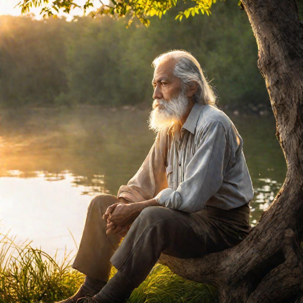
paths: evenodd
<path fill-rule="evenodd" d="M 138 18 L 145 26 L 150 24 L 149 17 L 154 15 L 160 19 L 170 8 L 177 5 L 178 0 L 110 0 L 109 4 L 104 4 L 102 0 L 101 7 L 96 8 L 90 12 L 92 17 L 97 15 L 110 15 L 113 18 L 128 17 L 129 26 L 133 18 Z M 180 0 L 186 3 L 186 0 Z M 222 0 L 220 0 L 222 1 Z M 223 0 L 225 1 L 225 0 Z M 217 0 L 191 0 L 192 6 L 180 11 L 176 15 L 175 20 L 182 20 L 183 16 L 188 18 L 189 16 L 198 15 L 200 12 L 209 16 L 211 14 L 211 5 L 216 3 Z M 241 5 L 241 0 L 238 2 Z M 73 8 L 81 8 L 83 12 L 86 12 L 88 8 L 94 8 L 93 0 L 86 0 L 85 4 L 78 5 L 73 0 L 55 0 L 49 3 L 49 0 L 22 0 L 16 6 L 21 8 L 22 13 L 30 12 L 32 7 L 41 7 L 40 14 L 45 17 L 58 16 L 59 11 L 63 11 L 67 14 L 70 13 Z"/>

